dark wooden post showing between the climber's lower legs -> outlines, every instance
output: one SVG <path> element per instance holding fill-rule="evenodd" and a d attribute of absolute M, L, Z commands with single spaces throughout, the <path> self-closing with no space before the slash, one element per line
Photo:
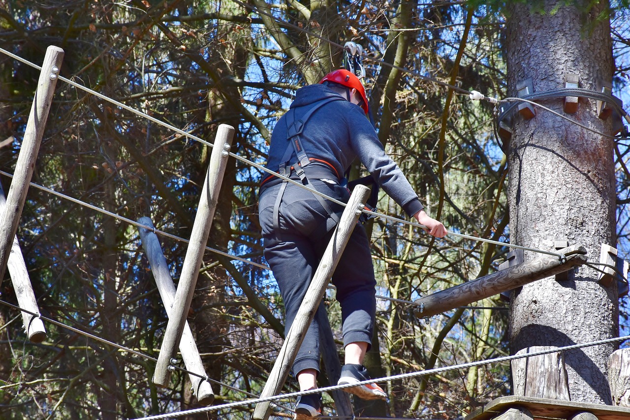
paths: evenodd
<path fill-rule="evenodd" d="M 324 359 L 324 368 L 326 368 L 326 373 L 328 373 L 330 385 L 337 385 L 341 377 L 341 363 L 339 362 L 335 337 L 333 337 L 333 331 L 330 328 L 328 313 L 326 313 L 326 306 L 324 306 L 323 301 L 319 304 L 319 310 L 315 316 L 319 322 L 319 348 Z M 337 416 L 353 418 L 354 411 L 350 402 L 350 394 L 340 389 L 334 390 L 331 394 L 333 401 L 335 401 Z"/>

